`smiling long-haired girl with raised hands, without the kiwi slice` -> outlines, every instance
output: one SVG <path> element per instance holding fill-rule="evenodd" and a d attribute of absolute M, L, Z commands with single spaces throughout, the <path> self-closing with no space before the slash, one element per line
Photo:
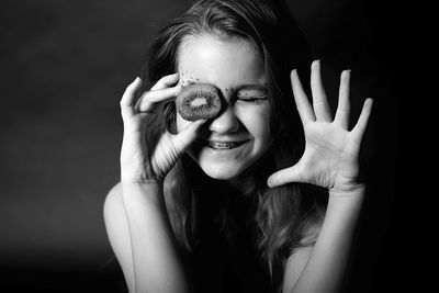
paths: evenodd
<path fill-rule="evenodd" d="M 198 1 L 160 32 L 148 75 L 123 94 L 121 182 L 104 218 L 130 292 L 340 290 L 372 100 L 350 127 L 345 70 L 333 117 L 315 60 L 308 101 L 297 75 L 308 72 L 308 48 L 285 11 Z M 189 122 L 176 110 L 193 83 L 217 89 L 213 119 Z"/>

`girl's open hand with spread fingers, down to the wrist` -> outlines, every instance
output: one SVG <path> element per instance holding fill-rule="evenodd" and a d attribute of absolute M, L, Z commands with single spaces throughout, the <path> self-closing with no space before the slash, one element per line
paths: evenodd
<path fill-rule="evenodd" d="M 291 72 L 294 100 L 305 133 L 305 151 L 294 166 L 277 171 L 267 181 L 270 188 L 289 182 L 311 183 L 327 188 L 333 194 L 354 191 L 359 185 L 359 153 L 372 99 L 364 101 L 356 126 L 349 131 L 350 70 L 341 72 L 336 116 L 333 120 L 320 78 L 320 64 L 312 65 L 311 105 L 296 70 Z M 314 109 L 313 109 L 314 108 Z"/>

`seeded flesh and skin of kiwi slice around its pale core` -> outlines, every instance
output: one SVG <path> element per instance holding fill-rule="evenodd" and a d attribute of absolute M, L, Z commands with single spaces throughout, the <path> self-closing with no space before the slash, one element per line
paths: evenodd
<path fill-rule="evenodd" d="M 194 99 L 205 99 L 206 104 L 191 105 Z M 187 121 L 213 119 L 219 113 L 221 99 L 216 88 L 210 83 L 193 83 L 182 89 L 176 99 L 177 111 Z"/>

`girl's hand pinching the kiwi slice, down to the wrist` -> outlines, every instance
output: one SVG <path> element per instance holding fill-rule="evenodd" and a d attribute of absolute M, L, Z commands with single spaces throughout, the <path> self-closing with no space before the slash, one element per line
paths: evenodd
<path fill-rule="evenodd" d="M 192 122 L 183 131 L 173 135 L 167 131 L 158 137 L 148 135 L 157 132 L 153 125 L 157 111 L 165 102 L 172 101 L 181 91 L 175 86 L 179 75 L 162 77 L 151 89 L 139 95 L 142 79 L 131 83 L 121 100 L 124 124 L 121 151 L 121 181 L 126 183 L 161 182 L 172 166 L 196 138 L 198 129 L 205 122 Z"/>

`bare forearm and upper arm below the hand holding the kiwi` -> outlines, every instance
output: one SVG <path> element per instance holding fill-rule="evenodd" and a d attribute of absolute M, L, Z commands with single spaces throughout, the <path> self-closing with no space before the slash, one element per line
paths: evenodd
<path fill-rule="evenodd" d="M 105 200 L 110 244 L 133 293 L 188 292 L 160 190 L 119 183 Z"/>

